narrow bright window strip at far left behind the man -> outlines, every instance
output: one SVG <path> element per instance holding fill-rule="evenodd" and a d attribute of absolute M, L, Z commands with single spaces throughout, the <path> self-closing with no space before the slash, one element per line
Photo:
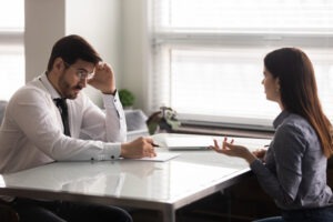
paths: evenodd
<path fill-rule="evenodd" d="M 0 8 L 0 100 L 24 84 L 24 0 L 2 1 Z"/>

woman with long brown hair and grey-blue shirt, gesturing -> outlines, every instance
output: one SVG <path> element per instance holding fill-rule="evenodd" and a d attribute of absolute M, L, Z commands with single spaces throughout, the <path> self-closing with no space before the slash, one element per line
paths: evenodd
<path fill-rule="evenodd" d="M 311 61 L 295 48 L 272 51 L 264 58 L 262 84 L 266 99 L 281 108 L 268 151 L 252 153 L 226 139 L 221 147 L 214 141 L 212 148 L 245 159 L 262 189 L 282 210 L 282 216 L 260 222 L 332 222 L 333 195 L 326 184 L 332 125 L 322 111 Z"/>

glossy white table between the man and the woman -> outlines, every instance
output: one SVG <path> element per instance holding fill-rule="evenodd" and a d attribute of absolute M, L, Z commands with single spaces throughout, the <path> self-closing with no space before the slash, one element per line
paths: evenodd
<path fill-rule="evenodd" d="M 183 137 L 160 134 L 164 137 Z M 193 140 L 195 137 L 191 135 Z M 262 139 L 235 139 L 251 149 L 266 144 Z M 175 152 L 159 148 L 159 153 Z M 176 151 L 179 152 L 179 151 Z M 165 162 L 115 160 L 56 162 L 3 174 L 0 195 L 85 201 L 161 211 L 164 222 L 175 221 L 175 211 L 236 183 L 250 171 L 239 158 L 211 150 L 181 151 Z"/>

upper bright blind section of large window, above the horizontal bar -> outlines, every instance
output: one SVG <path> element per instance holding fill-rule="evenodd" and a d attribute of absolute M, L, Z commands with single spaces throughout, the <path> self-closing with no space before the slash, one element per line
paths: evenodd
<path fill-rule="evenodd" d="M 173 31 L 322 33 L 333 27 L 332 9 L 330 0 L 153 0 L 153 23 Z"/>

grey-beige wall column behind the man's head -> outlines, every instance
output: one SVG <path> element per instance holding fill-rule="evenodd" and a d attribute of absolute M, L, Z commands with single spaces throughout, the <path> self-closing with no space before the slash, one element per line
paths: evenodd
<path fill-rule="evenodd" d="M 53 43 L 64 36 L 64 0 L 26 0 L 26 81 L 46 71 Z"/>

